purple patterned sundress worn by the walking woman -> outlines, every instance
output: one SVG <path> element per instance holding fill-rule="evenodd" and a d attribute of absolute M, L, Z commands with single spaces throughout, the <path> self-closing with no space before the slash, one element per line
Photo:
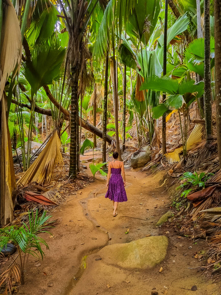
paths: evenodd
<path fill-rule="evenodd" d="M 111 168 L 111 176 L 105 198 L 109 198 L 111 201 L 115 202 L 127 201 L 127 194 L 121 176 L 121 168 Z"/>

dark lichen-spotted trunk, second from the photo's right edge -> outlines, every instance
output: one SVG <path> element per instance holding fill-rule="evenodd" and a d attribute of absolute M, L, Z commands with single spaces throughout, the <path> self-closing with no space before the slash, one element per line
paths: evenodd
<path fill-rule="evenodd" d="M 212 140 L 211 70 L 210 70 L 210 0 L 204 0 L 204 117 L 206 141 Z"/>

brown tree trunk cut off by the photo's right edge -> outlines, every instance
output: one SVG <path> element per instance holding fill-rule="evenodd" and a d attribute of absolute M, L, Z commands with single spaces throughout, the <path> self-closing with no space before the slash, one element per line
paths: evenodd
<path fill-rule="evenodd" d="M 216 130 L 218 156 L 221 169 L 221 0 L 215 1 L 214 7 L 215 37 L 215 97 L 216 97 Z"/>

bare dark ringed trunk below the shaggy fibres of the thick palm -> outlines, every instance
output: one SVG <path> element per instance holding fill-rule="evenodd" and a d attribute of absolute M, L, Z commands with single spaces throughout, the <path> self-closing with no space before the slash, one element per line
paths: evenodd
<path fill-rule="evenodd" d="M 70 125 L 70 168 L 69 176 L 77 178 L 77 94 L 79 71 L 76 66 L 71 68 L 71 125 Z"/>

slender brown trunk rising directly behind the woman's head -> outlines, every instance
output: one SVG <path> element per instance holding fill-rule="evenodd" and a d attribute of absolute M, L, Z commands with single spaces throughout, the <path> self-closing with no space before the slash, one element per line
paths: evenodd
<path fill-rule="evenodd" d="M 121 149 L 119 142 L 119 130 L 118 130 L 118 94 L 117 94 L 117 81 L 116 81 L 116 59 L 115 59 L 115 46 L 113 42 L 113 89 L 114 89 L 114 119 L 115 119 L 115 131 L 116 131 L 116 150 L 121 159 Z"/>

